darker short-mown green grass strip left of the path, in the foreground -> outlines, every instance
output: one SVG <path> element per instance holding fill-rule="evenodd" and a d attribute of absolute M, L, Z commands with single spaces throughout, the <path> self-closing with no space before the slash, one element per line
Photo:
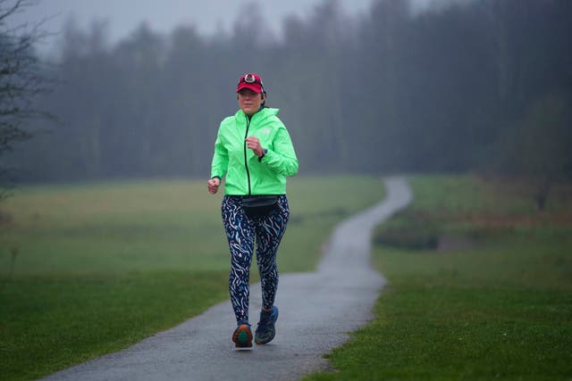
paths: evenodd
<path fill-rule="evenodd" d="M 225 298 L 227 279 L 223 271 L 16 277 L 2 291 L 3 379 L 35 379 L 173 327 Z"/>

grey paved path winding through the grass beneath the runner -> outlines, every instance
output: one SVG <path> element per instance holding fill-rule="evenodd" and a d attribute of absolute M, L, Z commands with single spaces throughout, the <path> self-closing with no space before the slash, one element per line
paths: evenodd
<path fill-rule="evenodd" d="M 283 274 L 276 337 L 251 351 L 231 343 L 230 302 L 122 351 L 57 372 L 46 380 L 296 380 L 327 368 L 322 358 L 372 318 L 385 279 L 369 265 L 372 229 L 411 200 L 402 178 L 387 179 L 387 198 L 339 225 L 315 273 Z M 260 287 L 251 289 L 257 321 Z"/>

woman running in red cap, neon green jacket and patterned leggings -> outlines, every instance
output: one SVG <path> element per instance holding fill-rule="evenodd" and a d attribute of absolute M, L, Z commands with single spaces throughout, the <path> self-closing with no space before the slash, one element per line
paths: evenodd
<path fill-rule="evenodd" d="M 269 343 L 276 333 L 276 252 L 290 216 L 286 178 L 298 173 L 298 159 L 288 130 L 276 116 L 278 109 L 265 107 L 262 79 L 245 74 L 236 92 L 240 110 L 218 129 L 208 191 L 215 194 L 226 176 L 223 224 L 231 249 L 229 290 L 237 320 L 232 341 L 238 348 L 248 348 L 252 346 L 248 279 L 255 242 L 262 286 L 255 343 Z"/>

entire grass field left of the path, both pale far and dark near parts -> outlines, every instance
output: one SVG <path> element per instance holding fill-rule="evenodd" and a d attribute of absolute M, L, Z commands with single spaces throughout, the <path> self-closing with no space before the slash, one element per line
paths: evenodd
<path fill-rule="evenodd" d="M 0 204 L 0 378 L 125 348 L 228 299 L 221 197 L 205 181 L 124 181 Z M 335 223 L 382 198 L 379 178 L 291 178 L 279 269 L 314 269 Z"/>

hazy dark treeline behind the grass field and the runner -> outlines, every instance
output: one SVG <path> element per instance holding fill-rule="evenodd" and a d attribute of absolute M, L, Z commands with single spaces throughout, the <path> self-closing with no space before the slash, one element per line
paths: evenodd
<path fill-rule="evenodd" d="M 110 46 L 105 24 L 65 30 L 40 108 L 57 124 L 19 146 L 30 181 L 206 177 L 240 74 L 265 79 L 302 173 L 487 170 L 572 174 L 572 2 L 476 0 L 359 19 L 325 0 L 264 33 L 256 7 L 231 34 L 145 25 Z M 41 131 L 50 130 L 49 133 Z"/>

